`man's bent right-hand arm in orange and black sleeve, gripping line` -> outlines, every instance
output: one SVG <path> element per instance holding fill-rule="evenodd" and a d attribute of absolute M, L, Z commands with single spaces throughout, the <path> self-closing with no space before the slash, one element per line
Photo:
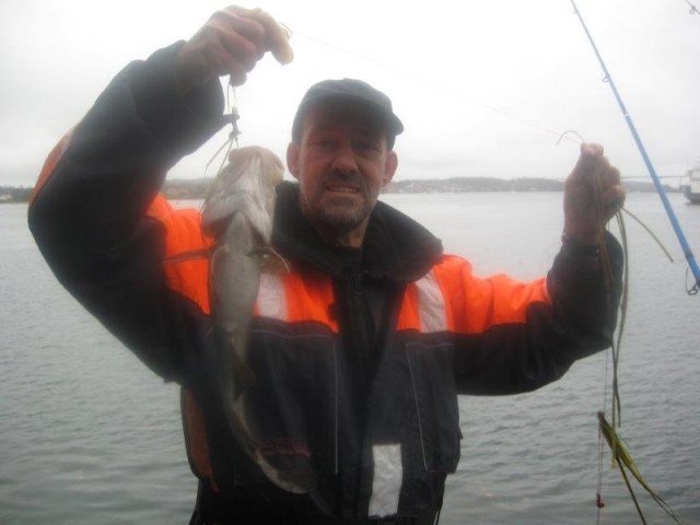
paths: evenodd
<path fill-rule="evenodd" d="M 623 257 L 603 225 L 623 200 L 619 172 L 603 148 L 583 144 L 567 179 L 562 247 L 546 279 L 478 279 L 468 264 L 452 262 L 459 275 L 453 282 L 459 285 L 443 293 L 455 305 L 459 392 L 533 390 L 561 377 L 575 360 L 610 346 Z"/>

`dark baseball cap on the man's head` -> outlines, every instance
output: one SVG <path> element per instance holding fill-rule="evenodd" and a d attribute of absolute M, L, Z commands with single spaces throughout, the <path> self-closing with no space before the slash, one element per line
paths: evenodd
<path fill-rule="evenodd" d="M 292 138 L 300 137 L 306 110 L 322 102 L 355 103 L 369 107 L 382 117 L 386 125 L 387 143 L 394 147 L 394 139 L 404 131 L 404 124 L 394 115 L 392 100 L 366 82 L 355 79 L 324 80 L 312 85 L 302 98 L 292 124 Z"/>

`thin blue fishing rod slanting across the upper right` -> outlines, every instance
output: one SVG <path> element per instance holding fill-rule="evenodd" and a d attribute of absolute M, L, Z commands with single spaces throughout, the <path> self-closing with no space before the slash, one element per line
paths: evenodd
<path fill-rule="evenodd" d="M 680 228 L 680 223 L 676 218 L 676 213 L 674 212 L 674 209 L 670 207 L 670 202 L 668 201 L 668 196 L 666 195 L 666 190 L 664 189 L 664 186 L 661 184 L 661 179 L 658 178 L 658 175 L 656 175 L 656 170 L 654 170 L 654 165 L 652 164 L 651 159 L 646 154 L 646 149 L 644 148 L 644 144 L 642 143 L 642 139 L 639 137 L 639 133 L 637 132 L 634 122 L 632 122 L 632 117 L 628 113 L 627 107 L 625 107 L 625 103 L 622 102 L 622 98 L 620 97 L 620 94 L 617 91 L 615 82 L 612 82 L 612 77 L 610 77 L 608 68 L 605 66 L 605 62 L 603 61 L 603 57 L 598 52 L 598 48 L 596 47 L 595 42 L 593 42 L 593 37 L 588 32 L 588 27 L 586 27 L 586 24 L 583 21 L 583 18 L 581 16 L 581 13 L 579 12 L 579 8 L 576 7 L 576 3 L 574 2 L 574 0 L 570 0 L 570 1 L 571 1 L 571 4 L 573 5 L 574 12 L 576 13 L 576 16 L 579 16 L 579 20 L 581 21 L 583 31 L 586 32 L 586 36 L 588 37 L 588 42 L 593 47 L 595 56 L 598 58 L 598 62 L 600 62 L 600 67 L 603 68 L 603 72 L 605 73 L 604 80 L 608 84 L 610 84 L 610 89 L 615 94 L 615 100 L 617 101 L 618 106 L 620 106 L 622 116 L 625 117 L 625 120 L 627 121 L 627 126 L 630 128 L 632 137 L 634 138 L 634 142 L 637 143 L 637 148 L 639 149 L 639 152 L 642 154 L 644 164 L 646 164 L 646 170 L 649 171 L 649 175 L 652 177 L 652 180 L 654 182 L 654 186 L 656 187 L 656 192 L 658 194 L 658 197 L 661 197 L 661 201 L 664 205 L 664 208 L 666 209 L 666 214 L 668 215 L 668 220 L 670 221 L 670 224 L 674 228 L 674 231 L 676 232 L 676 236 L 678 237 L 678 242 L 680 243 L 682 253 L 686 257 L 686 260 L 688 261 L 690 271 L 692 271 L 692 275 L 696 278 L 695 285 L 688 290 L 688 294 L 695 295 L 700 290 L 700 268 L 698 267 L 696 257 L 695 255 L 692 255 L 692 250 L 690 249 L 690 245 L 688 244 L 688 241 L 686 240 L 686 236 L 682 233 L 682 229 Z"/>

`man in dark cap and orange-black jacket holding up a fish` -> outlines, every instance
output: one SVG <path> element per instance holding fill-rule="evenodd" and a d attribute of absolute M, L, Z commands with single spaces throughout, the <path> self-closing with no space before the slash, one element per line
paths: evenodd
<path fill-rule="evenodd" d="M 481 280 L 377 202 L 402 131 L 388 97 L 354 80 L 312 86 L 287 154 L 299 185 L 278 189 L 272 240 L 291 271 L 261 280 L 246 394 L 269 463 L 314 479 L 284 491 L 242 453 L 215 388 L 212 241 L 197 212 L 156 197 L 222 126 L 219 75 L 241 84 L 267 51 L 291 59 L 283 31 L 231 7 L 129 65 L 49 155 L 32 232 L 71 293 L 183 386 L 192 524 L 434 523 L 459 459 L 457 394 L 532 390 L 609 345 L 617 296 L 598 246 L 618 279 L 619 246 L 600 232 L 625 197 L 619 173 L 584 144 L 547 279 Z"/>

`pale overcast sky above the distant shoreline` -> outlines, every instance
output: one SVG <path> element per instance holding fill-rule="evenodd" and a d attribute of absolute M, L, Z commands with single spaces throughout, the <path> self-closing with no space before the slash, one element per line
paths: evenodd
<path fill-rule="evenodd" d="M 691 3 L 695 3 L 691 0 Z M 645 175 L 569 0 L 241 2 L 292 32 L 236 90 L 242 144 L 283 155 L 308 85 L 354 77 L 385 91 L 406 132 L 397 179 L 563 178 L 574 129 L 623 175 Z M 660 175 L 700 159 L 700 15 L 685 0 L 579 0 Z M 224 3 L 2 0 L 0 184 L 34 184 L 48 151 L 132 59 L 190 37 Z M 349 51 L 349 52 L 348 52 Z M 196 178 L 219 135 L 171 172 Z"/>

